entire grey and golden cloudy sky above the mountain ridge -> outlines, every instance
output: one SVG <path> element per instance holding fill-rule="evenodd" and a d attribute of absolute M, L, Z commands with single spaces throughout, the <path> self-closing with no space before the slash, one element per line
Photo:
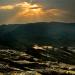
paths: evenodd
<path fill-rule="evenodd" d="M 75 0 L 0 0 L 0 24 L 75 22 Z"/>

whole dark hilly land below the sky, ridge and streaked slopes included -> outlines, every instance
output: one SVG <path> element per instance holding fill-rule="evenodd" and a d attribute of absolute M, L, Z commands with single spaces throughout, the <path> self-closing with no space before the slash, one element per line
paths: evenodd
<path fill-rule="evenodd" d="M 0 72 L 75 74 L 75 23 L 0 26 Z"/>

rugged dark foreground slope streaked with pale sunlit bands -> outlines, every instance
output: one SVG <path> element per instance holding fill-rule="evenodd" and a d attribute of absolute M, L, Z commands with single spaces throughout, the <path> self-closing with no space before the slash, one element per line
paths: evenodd
<path fill-rule="evenodd" d="M 74 47 L 0 50 L 0 75 L 75 75 Z"/>

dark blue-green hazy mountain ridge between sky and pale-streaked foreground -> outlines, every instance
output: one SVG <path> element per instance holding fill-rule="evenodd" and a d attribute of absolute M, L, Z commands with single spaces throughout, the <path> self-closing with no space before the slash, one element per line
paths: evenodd
<path fill-rule="evenodd" d="M 0 26 L 1 48 L 24 48 L 32 44 L 75 46 L 75 23 L 39 22 Z"/>

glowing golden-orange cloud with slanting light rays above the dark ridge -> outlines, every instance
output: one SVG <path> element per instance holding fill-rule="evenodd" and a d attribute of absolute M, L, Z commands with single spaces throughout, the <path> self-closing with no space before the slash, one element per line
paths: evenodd
<path fill-rule="evenodd" d="M 14 10 L 20 9 L 17 14 L 9 18 L 7 23 L 14 23 L 17 20 L 20 21 L 50 21 L 60 18 L 68 12 L 62 9 L 44 9 L 44 6 L 39 4 L 31 4 L 28 2 L 17 3 L 14 5 L 0 6 L 0 10 Z"/>

